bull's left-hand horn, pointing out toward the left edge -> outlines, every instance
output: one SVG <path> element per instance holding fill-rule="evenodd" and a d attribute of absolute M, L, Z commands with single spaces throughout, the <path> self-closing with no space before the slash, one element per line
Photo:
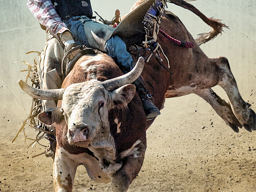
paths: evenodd
<path fill-rule="evenodd" d="M 29 96 L 34 97 L 36 99 L 42 100 L 62 100 L 63 93 L 65 89 L 56 89 L 56 90 L 39 90 L 29 86 L 22 80 L 19 80 L 19 85 L 24 92 L 26 92 Z"/>

